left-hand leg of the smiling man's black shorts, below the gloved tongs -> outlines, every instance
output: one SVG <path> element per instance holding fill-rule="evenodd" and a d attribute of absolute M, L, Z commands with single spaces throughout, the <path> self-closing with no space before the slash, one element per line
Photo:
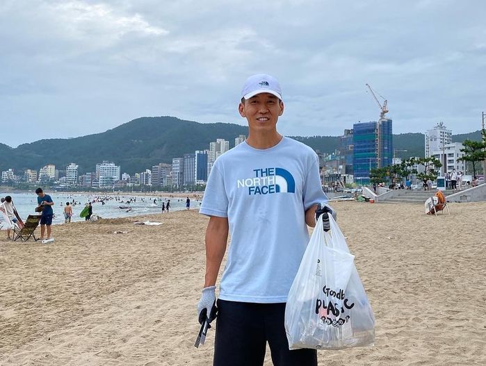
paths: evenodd
<path fill-rule="evenodd" d="M 260 305 L 218 300 L 213 366 L 264 364 L 265 325 Z"/>

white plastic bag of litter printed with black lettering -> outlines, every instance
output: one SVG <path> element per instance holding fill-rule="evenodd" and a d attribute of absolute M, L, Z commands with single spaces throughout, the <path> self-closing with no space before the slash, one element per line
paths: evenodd
<path fill-rule="evenodd" d="M 331 215 L 329 220 L 327 233 L 318 220 L 289 292 L 289 349 L 345 349 L 373 345 L 375 340 L 375 317 L 355 257 Z"/>

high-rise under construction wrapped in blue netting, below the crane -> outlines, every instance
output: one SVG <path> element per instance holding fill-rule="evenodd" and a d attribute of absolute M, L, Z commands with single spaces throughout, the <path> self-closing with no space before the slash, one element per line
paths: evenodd
<path fill-rule="evenodd" d="M 353 172 L 356 183 L 368 184 L 371 169 L 388 167 L 392 159 L 391 119 L 353 124 Z"/>

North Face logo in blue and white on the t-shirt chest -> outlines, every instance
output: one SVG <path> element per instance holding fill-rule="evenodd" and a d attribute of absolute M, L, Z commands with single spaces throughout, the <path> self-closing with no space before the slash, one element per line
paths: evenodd
<path fill-rule="evenodd" d="M 237 188 L 248 188 L 248 194 L 295 193 L 295 180 L 282 168 L 253 169 L 254 178 L 238 179 Z"/>

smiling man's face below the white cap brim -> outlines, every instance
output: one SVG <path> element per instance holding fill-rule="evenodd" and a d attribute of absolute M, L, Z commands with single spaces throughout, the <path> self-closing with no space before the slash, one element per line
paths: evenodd
<path fill-rule="evenodd" d="M 238 111 L 248 120 L 250 131 L 277 131 L 277 120 L 284 113 L 284 103 L 273 94 L 261 93 L 245 99 Z"/>

